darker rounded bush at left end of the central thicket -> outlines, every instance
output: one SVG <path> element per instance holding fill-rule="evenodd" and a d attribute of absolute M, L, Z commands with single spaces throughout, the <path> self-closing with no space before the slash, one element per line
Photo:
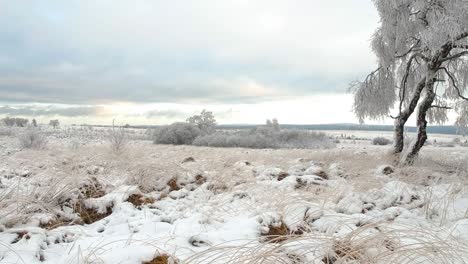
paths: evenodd
<path fill-rule="evenodd" d="M 156 129 L 153 142 L 155 144 L 191 145 L 201 134 L 201 130 L 196 125 L 179 122 Z"/>

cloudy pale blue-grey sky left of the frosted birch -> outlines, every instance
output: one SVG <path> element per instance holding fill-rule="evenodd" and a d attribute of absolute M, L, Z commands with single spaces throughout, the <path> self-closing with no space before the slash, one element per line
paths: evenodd
<path fill-rule="evenodd" d="M 0 0 L 0 116 L 356 123 L 371 0 Z"/>

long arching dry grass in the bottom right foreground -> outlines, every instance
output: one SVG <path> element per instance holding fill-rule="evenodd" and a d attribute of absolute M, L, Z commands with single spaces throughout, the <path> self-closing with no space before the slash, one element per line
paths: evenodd
<path fill-rule="evenodd" d="M 361 226 L 345 236 L 307 233 L 279 243 L 245 241 L 242 246 L 215 245 L 185 263 L 461 264 L 466 263 L 467 257 L 468 246 L 453 237 L 418 226 L 381 223 Z"/>

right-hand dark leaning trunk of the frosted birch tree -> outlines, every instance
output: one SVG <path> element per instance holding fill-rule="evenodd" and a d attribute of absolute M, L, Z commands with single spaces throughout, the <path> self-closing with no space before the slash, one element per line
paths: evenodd
<path fill-rule="evenodd" d="M 434 78 L 432 76 L 435 75 L 434 71 L 431 71 L 428 74 L 429 78 L 426 83 L 426 96 L 424 97 L 423 101 L 419 105 L 418 108 L 418 115 L 417 115 L 417 136 L 416 140 L 410 147 L 408 154 L 405 157 L 404 163 L 406 165 L 411 165 L 414 162 L 414 159 L 418 156 L 419 151 L 424 146 L 424 143 L 427 140 L 427 111 L 431 108 L 432 103 L 434 102 L 434 98 L 436 94 L 434 93 Z"/>

